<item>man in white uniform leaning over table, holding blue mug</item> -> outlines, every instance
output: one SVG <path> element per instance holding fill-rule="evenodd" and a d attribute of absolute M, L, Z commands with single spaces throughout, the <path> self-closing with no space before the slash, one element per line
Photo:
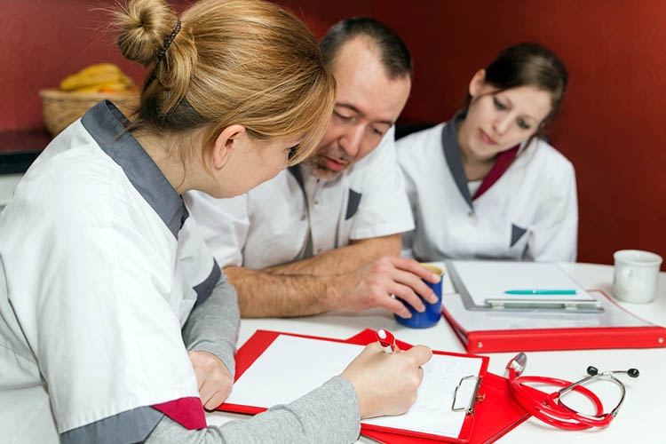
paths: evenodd
<path fill-rule="evenodd" d="M 405 44 L 372 19 L 343 20 L 321 41 L 337 81 L 319 146 L 301 165 L 234 199 L 186 202 L 234 285 L 243 317 L 298 316 L 384 306 L 410 317 L 436 297 L 439 277 L 400 258 L 414 228 L 395 160 L 394 128 L 407 102 Z"/>

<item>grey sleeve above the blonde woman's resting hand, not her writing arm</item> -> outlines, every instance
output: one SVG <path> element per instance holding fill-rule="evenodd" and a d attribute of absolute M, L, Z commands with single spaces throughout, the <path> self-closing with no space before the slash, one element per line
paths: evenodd
<path fill-rule="evenodd" d="M 234 353 L 241 313 L 236 290 L 224 273 L 200 305 L 196 305 L 183 327 L 187 350 L 202 350 L 217 356 L 234 376 Z"/>

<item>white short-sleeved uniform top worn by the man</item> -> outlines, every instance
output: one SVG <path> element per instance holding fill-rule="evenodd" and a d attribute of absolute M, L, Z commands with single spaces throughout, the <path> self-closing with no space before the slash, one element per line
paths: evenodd
<path fill-rule="evenodd" d="M 393 138 L 392 128 L 369 155 L 329 181 L 297 166 L 303 187 L 284 170 L 233 199 L 201 192 L 184 199 L 220 266 L 276 266 L 406 232 L 414 224 Z"/>

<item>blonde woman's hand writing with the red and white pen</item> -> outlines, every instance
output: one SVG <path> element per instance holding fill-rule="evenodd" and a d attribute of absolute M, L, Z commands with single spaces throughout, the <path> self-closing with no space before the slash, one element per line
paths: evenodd
<path fill-rule="evenodd" d="M 359 398 L 361 418 L 401 415 L 416 401 L 424 363 L 432 351 L 415 345 L 406 352 L 385 353 L 378 342 L 369 344 L 340 376 L 348 379 Z"/>

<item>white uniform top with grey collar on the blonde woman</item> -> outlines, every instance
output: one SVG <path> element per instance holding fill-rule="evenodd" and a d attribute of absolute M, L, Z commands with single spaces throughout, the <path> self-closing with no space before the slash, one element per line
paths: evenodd
<path fill-rule="evenodd" d="M 180 329 L 214 261 L 155 164 L 154 173 L 131 170 L 152 161 L 129 134 L 114 139 L 117 109 L 101 102 L 90 115 L 108 146 L 73 123 L 0 215 L 3 442 L 58 442 L 59 433 L 186 399 L 205 424 Z M 154 179 L 163 186 L 145 182 Z"/>

